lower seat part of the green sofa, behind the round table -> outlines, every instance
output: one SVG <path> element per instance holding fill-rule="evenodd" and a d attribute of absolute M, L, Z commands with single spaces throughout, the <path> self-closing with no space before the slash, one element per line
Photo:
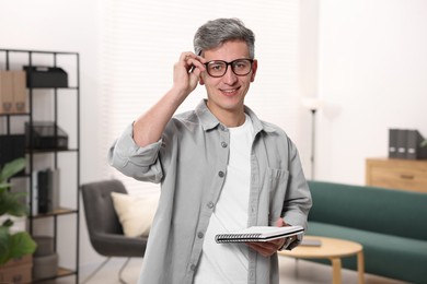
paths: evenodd
<path fill-rule="evenodd" d="M 427 280 L 427 241 L 312 221 L 307 234 L 361 244 L 368 273 L 414 283 Z M 343 259 L 343 267 L 356 270 L 356 258 Z"/>

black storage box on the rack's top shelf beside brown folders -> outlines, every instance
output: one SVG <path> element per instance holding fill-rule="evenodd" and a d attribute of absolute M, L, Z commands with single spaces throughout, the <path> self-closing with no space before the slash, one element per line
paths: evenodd
<path fill-rule="evenodd" d="M 27 87 L 67 87 L 68 74 L 59 67 L 24 66 Z"/>

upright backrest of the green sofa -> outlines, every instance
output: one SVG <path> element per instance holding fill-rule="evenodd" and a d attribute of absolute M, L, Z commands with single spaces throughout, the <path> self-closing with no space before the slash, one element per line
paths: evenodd
<path fill-rule="evenodd" d="M 376 187 L 309 181 L 309 221 L 427 239 L 427 194 Z"/>

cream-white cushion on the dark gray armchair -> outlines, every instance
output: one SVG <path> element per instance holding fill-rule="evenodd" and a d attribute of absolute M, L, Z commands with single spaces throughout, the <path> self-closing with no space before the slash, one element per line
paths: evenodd
<path fill-rule="evenodd" d="M 125 236 L 148 236 L 158 208 L 159 196 L 131 196 L 112 192 L 112 198 Z"/>

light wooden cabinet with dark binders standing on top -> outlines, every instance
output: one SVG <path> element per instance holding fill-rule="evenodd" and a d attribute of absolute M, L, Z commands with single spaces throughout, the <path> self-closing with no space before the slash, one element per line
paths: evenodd
<path fill-rule="evenodd" d="M 427 193 L 427 161 L 367 158 L 366 184 Z"/>

